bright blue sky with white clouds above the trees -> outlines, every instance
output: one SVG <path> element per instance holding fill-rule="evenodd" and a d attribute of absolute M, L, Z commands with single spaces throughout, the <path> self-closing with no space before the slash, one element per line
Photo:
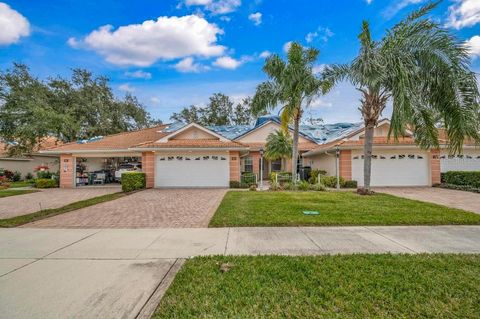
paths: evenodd
<path fill-rule="evenodd" d="M 137 96 L 154 118 L 221 92 L 253 96 L 270 54 L 297 41 L 320 50 L 314 70 L 358 52 L 368 20 L 373 37 L 424 0 L 0 0 L 0 69 L 27 64 L 41 79 L 84 68 L 110 78 L 118 97 Z M 444 0 L 431 14 L 470 48 L 480 72 L 480 0 Z M 359 94 L 341 83 L 316 99 L 306 118 L 360 121 Z M 391 109 L 383 116 L 389 117 Z"/>

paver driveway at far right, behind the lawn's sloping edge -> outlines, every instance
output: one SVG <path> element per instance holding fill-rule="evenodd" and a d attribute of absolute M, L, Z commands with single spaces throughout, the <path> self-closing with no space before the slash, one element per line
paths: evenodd
<path fill-rule="evenodd" d="M 374 190 L 480 214 L 480 194 L 477 193 L 437 187 L 377 187 Z"/>

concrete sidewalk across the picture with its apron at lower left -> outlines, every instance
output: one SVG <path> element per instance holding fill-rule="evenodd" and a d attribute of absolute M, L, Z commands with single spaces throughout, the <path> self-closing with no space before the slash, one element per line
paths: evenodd
<path fill-rule="evenodd" d="M 0 309 L 135 318 L 154 308 L 182 258 L 385 252 L 480 253 L 480 226 L 0 229 Z"/>

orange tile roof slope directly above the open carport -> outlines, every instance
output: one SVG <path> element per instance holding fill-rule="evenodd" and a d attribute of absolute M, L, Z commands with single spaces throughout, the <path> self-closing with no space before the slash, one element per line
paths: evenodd
<path fill-rule="evenodd" d="M 131 132 L 123 132 L 105 136 L 89 143 L 72 142 L 58 147 L 47 149 L 48 151 L 89 151 L 89 150 L 113 150 L 128 149 L 131 146 L 144 143 L 145 141 L 156 141 L 167 133 L 161 132 L 166 125 L 159 125 L 146 129 Z"/>

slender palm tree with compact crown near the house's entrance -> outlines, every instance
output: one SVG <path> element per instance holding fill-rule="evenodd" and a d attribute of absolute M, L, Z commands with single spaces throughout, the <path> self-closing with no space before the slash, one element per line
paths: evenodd
<path fill-rule="evenodd" d="M 303 108 L 318 94 L 327 91 L 325 82 L 313 73 L 313 64 L 319 52 L 292 43 L 287 61 L 274 54 L 267 58 L 263 71 L 269 80 L 257 87 L 253 97 L 252 111 L 258 114 L 268 109 L 281 107 L 281 121 L 285 130 L 293 124 L 292 178 L 296 181 L 298 163 L 298 138 Z"/>

